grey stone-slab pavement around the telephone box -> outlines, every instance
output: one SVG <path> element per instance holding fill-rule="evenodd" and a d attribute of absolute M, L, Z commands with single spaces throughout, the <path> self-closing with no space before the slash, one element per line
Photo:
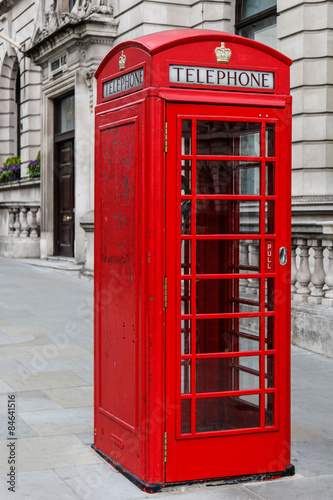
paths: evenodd
<path fill-rule="evenodd" d="M 333 499 L 333 359 L 298 347 L 292 347 L 295 476 L 177 486 L 153 496 L 134 486 L 91 449 L 93 282 L 64 264 L 31 264 L 0 258 L 1 499 Z"/>

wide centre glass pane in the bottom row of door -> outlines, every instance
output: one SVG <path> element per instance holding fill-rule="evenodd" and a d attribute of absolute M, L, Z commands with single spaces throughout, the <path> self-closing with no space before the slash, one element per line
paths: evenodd
<path fill-rule="evenodd" d="M 196 401 L 196 431 L 212 432 L 260 426 L 257 404 L 241 397 L 200 398 Z"/>

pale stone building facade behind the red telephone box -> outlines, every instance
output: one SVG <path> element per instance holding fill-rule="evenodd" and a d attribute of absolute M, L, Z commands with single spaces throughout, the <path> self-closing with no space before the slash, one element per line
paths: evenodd
<path fill-rule="evenodd" d="M 329 0 L 0 0 L 0 168 L 21 159 L 19 180 L 1 183 L 0 173 L 0 255 L 92 271 L 93 75 L 115 44 L 174 28 L 241 34 L 293 60 L 292 282 L 302 336 L 310 306 L 333 306 L 332 26 Z M 31 177 L 39 151 L 41 175 Z"/>

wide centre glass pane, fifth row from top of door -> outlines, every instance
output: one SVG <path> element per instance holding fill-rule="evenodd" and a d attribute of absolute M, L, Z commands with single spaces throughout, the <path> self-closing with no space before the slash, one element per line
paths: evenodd
<path fill-rule="evenodd" d="M 198 314 L 241 312 L 242 303 L 252 306 L 253 312 L 259 312 L 260 279 L 253 279 L 253 290 L 240 290 L 239 280 L 200 279 L 197 280 L 196 302 Z M 251 311 L 252 312 L 252 311 Z"/>

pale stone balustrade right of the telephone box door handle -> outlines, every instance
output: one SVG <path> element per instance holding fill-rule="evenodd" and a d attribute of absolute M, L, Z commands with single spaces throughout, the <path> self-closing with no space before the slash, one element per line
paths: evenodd
<path fill-rule="evenodd" d="M 333 306 L 333 221 L 319 232 L 295 233 L 291 251 L 291 293 L 297 302 Z"/>

